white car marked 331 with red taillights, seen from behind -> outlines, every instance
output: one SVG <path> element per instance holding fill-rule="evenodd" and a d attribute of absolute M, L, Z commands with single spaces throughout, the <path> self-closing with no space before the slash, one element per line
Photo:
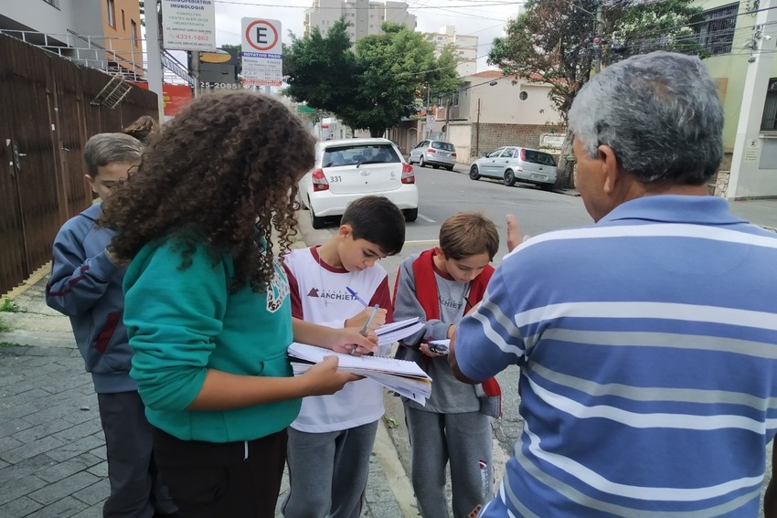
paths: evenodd
<path fill-rule="evenodd" d="M 407 221 L 418 218 L 413 167 L 387 139 L 317 143 L 314 168 L 303 176 L 299 188 L 314 228 L 323 228 L 326 217 L 342 216 L 350 202 L 367 195 L 386 196 Z"/>

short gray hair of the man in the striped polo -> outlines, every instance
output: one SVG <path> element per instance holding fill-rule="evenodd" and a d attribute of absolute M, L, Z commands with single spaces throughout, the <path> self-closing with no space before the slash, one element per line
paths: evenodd
<path fill-rule="evenodd" d="M 569 129 L 591 156 L 612 147 L 643 184 L 701 185 L 723 158 L 723 106 L 697 57 L 653 52 L 616 63 L 586 84 Z"/>

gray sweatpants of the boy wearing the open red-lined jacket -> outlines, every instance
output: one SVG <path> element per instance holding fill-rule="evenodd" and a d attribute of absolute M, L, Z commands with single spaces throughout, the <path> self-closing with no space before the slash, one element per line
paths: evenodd
<path fill-rule="evenodd" d="M 438 414 L 405 405 L 420 515 L 445 518 L 445 465 L 451 462 L 453 516 L 467 518 L 494 492 L 491 420 L 480 412 Z"/>

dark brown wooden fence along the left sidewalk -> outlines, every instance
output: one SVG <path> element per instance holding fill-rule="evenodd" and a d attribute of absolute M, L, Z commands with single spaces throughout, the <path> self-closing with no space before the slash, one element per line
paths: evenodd
<path fill-rule="evenodd" d="M 91 104 L 111 79 L 0 35 L 0 294 L 51 259 L 59 227 L 90 205 L 89 137 L 156 118 L 156 95 L 136 87 L 115 109 Z"/>

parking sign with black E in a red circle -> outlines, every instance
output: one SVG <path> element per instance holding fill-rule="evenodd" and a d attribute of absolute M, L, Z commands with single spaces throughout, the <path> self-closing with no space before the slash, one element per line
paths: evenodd
<path fill-rule="evenodd" d="M 243 84 L 281 86 L 283 57 L 281 22 L 263 18 L 242 19 Z"/>

